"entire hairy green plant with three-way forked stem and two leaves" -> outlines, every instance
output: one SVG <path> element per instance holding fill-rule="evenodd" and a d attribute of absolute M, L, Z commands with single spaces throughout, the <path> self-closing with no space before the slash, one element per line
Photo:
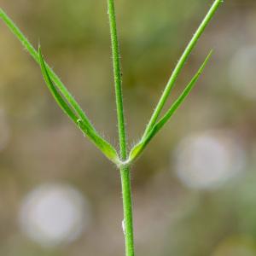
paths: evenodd
<path fill-rule="evenodd" d="M 125 133 L 125 116 L 123 107 L 123 95 L 122 95 L 122 81 L 121 81 L 121 71 L 120 71 L 120 61 L 119 61 L 119 43 L 118 43 L 118 33 L 116 26 L 116 18 L 114 11 L 114 1 L 108 0 L 108 15 L 110 24 L 110 35 L 112 43 L 113 52 L 113 78 L 114 78 L 114 88 L 116 94 L 116 106 L 117 106 L 117 116 L 118 116 L 118 127 L 119 127 L 119 154 L 116 149 L 108 143 L 103 137 L 99 135 L 95 127 L 91 124 L 90 119 L 86 116 L 82 108 L 80 108 L 79 103 L 76 102 L 70 92 L 67 90 L 64 84 L 62 84 L 61 79 L 52 71 L 49 65 L 44 61 L 41 49 L 39 47 L 38 51 L 33 48 L 32 44 L 29 43 L 27 38 L 20 32 L 20 29 L 15 26 L 15 23 L 0 9 L 0 18 L 5 22 L 11 32 L 14 33 L 15 37 L 20 40 L 20 43 L 27 49 L 32 58 L 38 62 L 41 67 L 42 74 L 45 83 L 48 86 L 49 91 L 54 96 L 55 101 L 59 104 L 61 109 L 67 116 L 73 120 L 73 123 L 83 131 L 84 136 L 88 137 L 92 143 L 99 148 L 102 153 L 108 157 L 109 160 L 113 161 L 120 170 L 122 191 L 123 191 L 123 205 L 124 205 L 124 226 L 125 226 L 125 247 L 126 256 L 134 256 L 134 241 L 133 241 L 133 225 L 132 225 L 132 204 L 131 204 L 131 182 L 130 182 L 130 166 L 131 163 L 136 160 L 142 153 L 144 148 L 148 146 L 148 143 L 152 138 L 160 131 L 160 129 L 166 125 L 167 121 L 171 119 L 173 113 L 176 112 L 185 98 L 189 95 L 189 92 L 194 88 L 195 83 L 200 78 L 201 73 L 207 65 L 212 51 L 207 55 L 206 60 L 201 65 L 198 72 L 195 74 L 193 79 L 185 87 L 182 94 L 177 97 L 177 100 L 172 104 L 171 108 L 167 110 L 164 116 L 158 121 L 160 113 L 164 108 L 166 101 L 171 93 L 171 90 L 177 81 L 177 77 L 183 70 L 185 62 L 188 60 L 189 55 L 195 48 L 195 45 L 199 38 L 201 38 L 202 33 L 206 29 L 210 20 L 212 20 L 213 15 L 216 13 L 222 0 L 215 0 L 212 4 L 211 9 L 209 9 L 206 17 L 201 22 L 193 38 L 190 40 L 188 46 L 183 52 L 180 60 L 177 62 L 166 88 L 163 91 L 160 101 L 158 102 L 151 119 L 143 133 L 143 137 L 137 143 L 137 145 L 131 148 L 131 152 L 127 152 L 126 143 L 126 133 Z M 127 157 L 128 155 L 128 157 Z"/>

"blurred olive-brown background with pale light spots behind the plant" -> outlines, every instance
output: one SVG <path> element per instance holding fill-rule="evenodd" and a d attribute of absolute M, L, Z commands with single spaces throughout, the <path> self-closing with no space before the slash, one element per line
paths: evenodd
<path fill-rule="evenodd" d="M 2 0 L 118 145 L 107 1 Z M 130 145 L 212 0 L 116 1 Z M 169 106 L 212 60 L 132 168 L 137 255 L 256 255 L 256 2 L 227 0 Z M 0 22 L 0 255 L 124 254 L 119 172 L 61 113 Z"/>

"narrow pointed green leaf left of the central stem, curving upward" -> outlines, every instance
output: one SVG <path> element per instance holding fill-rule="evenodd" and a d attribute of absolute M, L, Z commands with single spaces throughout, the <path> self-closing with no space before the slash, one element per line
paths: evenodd
<path fill-rule="evenodd" d="M 91 125 L 88 125 L 88 123 L 84 122 L 83 119 L 80 119 L 79 116 L 73 112 L 73 109 L 70 108 L 67 102 L 63 99 L 59 91 L 55 88 L 55 84 L 50 79 L 40 47 L 38 49 L 38 55 L 39 55 L 41 70 L 44 76 L 44 81 L 49 91 L 51 92 L 52 96 L 54 96 L 55 101 L 61 107 L 63 112 L 66 113 L 67 116 L 69 116 L 69 118 L 73 120 L 75 125 L 77 125 L 81 131 L 83 131 L 84 135 L 90 138 L 90 141 L 92 141 L 96 145 L 96 147 L 99 148 L 102 151 L 102 153 L 108 157 L 109 160 L 113 161 L 113 163 L 115 164 L 119 164 L 119 156 L 116 150 L 113 148 L 113 146 L 109 144 L 107 141 L 105 141 L 95 131 L 95 129 L 91 127 Z"/>

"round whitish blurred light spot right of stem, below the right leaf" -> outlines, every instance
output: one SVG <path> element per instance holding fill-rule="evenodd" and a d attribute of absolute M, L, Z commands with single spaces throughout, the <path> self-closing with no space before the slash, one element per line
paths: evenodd
<path fill-rule="evenodd" d="M 177 177 L 194 189 L 214 189 L 245 166 L 245 153 L 228 132 L 207 131 L 185 137 L 175 152 Z"/>

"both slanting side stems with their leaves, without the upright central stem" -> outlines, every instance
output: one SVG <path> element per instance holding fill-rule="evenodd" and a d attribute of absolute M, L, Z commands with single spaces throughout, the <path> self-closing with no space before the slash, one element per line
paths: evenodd
<path fill-rule="evenodd" d="M 195 77 L 191 79 L 185 90 L 183 90 L 181 96 L 177 98 L 177 101 L 172 104 L 172 107 L 169 108 L 166 114 L 157 122 L 157 119 L 160 116 L 160 112 L 164 107 L 164 104 L 166 103 L 167 97 L 170 95 L 172 87 L 177 80 L 177 76 L 183 69 L 183 66 L 188 60 L 192 49 L 195 48 L 197 40 L 201 37 L 202 32 L 205 30 L 207 24 L 212 19 L 212 16 L 215 14 L 220 3 L 220 0 L 213 3 L 212 8 L 209 10 L 207 16 L 195 32 L 194 37 L 189 42 L 181 59 L 178 61 L 177 67 L 174 69 L 171 78 L 166 84 L 166 89 L 164 90 L 163 95 L 161 96 L 160 101 L 155 108 L 155 111 L 146 127 L 143 137 L 141 138 L 139 143 L 137 143 L 137 145 L 131 148 L 129 157 L 126 160 L 121 160 L 121 157 L 117 153 L 117 150 L 113 148 L 113 146 L 96 131 L 95 127 L 91 124 L 90 119 L 88 119 L 82 108 L 80 108 L 79 103 L 75 101 L 65 85 L 62 84 L 61 79 L 59 79 L 58 76 L 49 67 L 49 65 L 45 63 L 40 47 L 38 48 L 38 51 L 33 48 L 32 44 L 30 44 L 27 38 L 22 34 L 22 32 L 20 32 L 20 29 L 15 26 L 15 23 L 8 17 L 8 15 L 3 12 L 3 9 L 0 9 L 0 18 L 3 19 L 7 26 L 9 26 L 9 29 L 20 40 L 21 44 L 25 46 L 28 52 L 32 55 L 33 59 L 37 61 L 38 64 L 41 66 L 45 83 L 47 84 L 51 94 L 54 96 L 55 101 L 59 104 L 64 113 L 66 113 L 69 118 L 73 120 L 74 124 L 77 125 L 77 127 L 81 131 L 83 131 L 85 136 L 89 137 L 90 141 L 94 143 L 96 147 L 99 148 L 109 160 L 111 160 L 117 166 L 124 166 L 131 165 L 131 163 L 143 153 L 143 149 L 147 147 L 151 139 L 172 117 L 172 114 L 175 113 L 177 108 L 183 103 L 184 99 L 186 98 L 186 96 L 189 95 L 189 92 L 193 89 L 196 81 L 199 79 L 203 69 L 207 65 L 207 61 L 212 55 L 212 51 L 209 55 L 207 55 L 206 60 L 203 62 L 200 69 L 195 74 Z"/>

